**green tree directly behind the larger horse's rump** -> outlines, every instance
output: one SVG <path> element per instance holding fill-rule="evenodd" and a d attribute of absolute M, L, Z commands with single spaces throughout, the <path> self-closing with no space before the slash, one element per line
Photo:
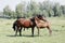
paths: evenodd
<path fill-rule="evenodd" d="M 16 16 L 23 17 L 24 16 L 24 4 L 23 3 L 18 3 L 16 5 L 15 12 L 16 12 Z"/>

